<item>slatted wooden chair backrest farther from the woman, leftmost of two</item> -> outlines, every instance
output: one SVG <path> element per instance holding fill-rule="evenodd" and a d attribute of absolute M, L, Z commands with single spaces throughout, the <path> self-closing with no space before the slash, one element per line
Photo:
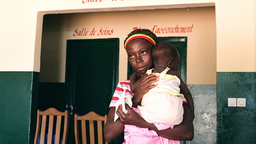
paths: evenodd
<path fill-rule="evenodd" d="M 63 122 L 61 122 L 64 119 Z M 68 123 L 69 123 L 69 111 L 61 112 L 55 108 L 48 108 L 45 111 L 37 110 L 37 128 L 34 139 L 34 144 L 46 144 L 44 140 L 47 137 L 47 144 L 52 144 L 52 139 L 55 139 L 54 143 L 66 144 L 68 134 Z M 48 126 L 48 133 L 45 132 L 45 128 Z M 54 127 L 55 131 L 54 131 Z M 61 129 L 63 135 L 61 136 Z M 40 138 L 40 142 L 39 139 Z"/>

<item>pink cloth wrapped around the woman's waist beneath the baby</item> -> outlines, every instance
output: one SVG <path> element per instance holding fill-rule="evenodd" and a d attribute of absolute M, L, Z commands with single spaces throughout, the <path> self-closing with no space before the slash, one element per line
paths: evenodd
<path fill-rule="evenodd" d="M 137 108 L 132 107 L 132 109 L 141 116 L 140 111 Z M 174 127 L 174 125 L 163 123 L 154 123 L 154 125 L 158 130 Z M 155 131 L 149 130 L 148 128 L 139 128 L 134 125 L 124 126 L 124 131 L 129 133 L 128 137 L 126 138 L 126 144 L 180 144 L 180 141 L 170 140 L 158 136 Z"/>

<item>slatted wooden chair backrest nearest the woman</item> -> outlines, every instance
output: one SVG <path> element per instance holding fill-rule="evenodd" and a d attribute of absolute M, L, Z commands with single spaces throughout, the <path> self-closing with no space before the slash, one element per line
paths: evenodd
<path fill-rule="evenodd" d="M 107 115 L 101 116 L 96 114 L 95 112 L 91 111 L 83 116 L 79 116 L 75 114 L 75 140 L 76 144 L 80 144 L 79 142 L 79 124 L 78 121 L 81 121 L 81 131 L 82 131 L 82 143 L 86 144 L 86 121 L 89 121 L 89 130 L 90 130 L 90 143 L 94 144 L 94 121 L 97 121 L 97 129 L 98 129 L 98 144 L 103 143 L 103 135 L 102 135 L 102 121 L 104 121 L 104 124 L 107 121 Z M 105 141 L 105 143 L 107 143 Z"/>

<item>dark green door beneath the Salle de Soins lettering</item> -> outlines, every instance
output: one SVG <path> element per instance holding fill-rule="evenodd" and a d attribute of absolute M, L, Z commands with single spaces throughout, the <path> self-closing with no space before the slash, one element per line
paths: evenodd
<path fill-rule="evenodd" d="M 74 114 L 108 114 L 118 83 L 119 39 L 67 40 L 68 143 L 74 143 Z"/>

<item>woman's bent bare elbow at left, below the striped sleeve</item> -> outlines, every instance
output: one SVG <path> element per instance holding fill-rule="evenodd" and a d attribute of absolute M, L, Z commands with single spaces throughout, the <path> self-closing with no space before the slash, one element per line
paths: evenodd
<path fill-rule="evenodd" d="M 115 111 L 116 107 L 110 108 L 104 125 L 104 139 L 108 143 L 116 139 L 124 130 L 124 125 L 119 118 L 114 122 Z"/>

